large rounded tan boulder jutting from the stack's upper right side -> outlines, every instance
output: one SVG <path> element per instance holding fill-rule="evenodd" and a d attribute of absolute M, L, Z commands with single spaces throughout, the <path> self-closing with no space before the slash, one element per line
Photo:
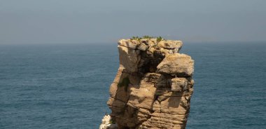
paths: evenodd
<path fill-rule="evenodd" d="M 165 57 L 158 65 L 158 72 L 175 76 L 192 76 L 194 60 L 186 54 L 174 53 Z"/>

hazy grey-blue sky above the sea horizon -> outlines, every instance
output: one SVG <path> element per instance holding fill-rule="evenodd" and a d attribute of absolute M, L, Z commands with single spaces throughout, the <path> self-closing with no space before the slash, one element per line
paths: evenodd
<path fill-rule="evenodd" d="M 266 41 L 266 0 L 0 0 L 0 43 Z"/>

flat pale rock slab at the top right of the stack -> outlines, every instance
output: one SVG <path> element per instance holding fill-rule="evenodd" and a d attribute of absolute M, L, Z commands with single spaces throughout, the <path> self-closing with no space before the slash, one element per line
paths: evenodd
<path fill-rule="evenodd" d="M 159 47 L 167 49 L 181 48 L 182 45 L 183 45 L 182 41 L 172 41 L 172 40 L 160 41 L 158 43 Z"/>

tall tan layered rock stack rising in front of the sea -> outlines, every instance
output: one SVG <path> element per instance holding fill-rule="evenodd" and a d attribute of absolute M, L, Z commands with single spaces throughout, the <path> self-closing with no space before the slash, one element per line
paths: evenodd
<path fill-rule="evenodd" d="M 194 60 L 181 41 L 118 41 L 120 67 L 107 102 L 118 128 L 186 128 Z"/>

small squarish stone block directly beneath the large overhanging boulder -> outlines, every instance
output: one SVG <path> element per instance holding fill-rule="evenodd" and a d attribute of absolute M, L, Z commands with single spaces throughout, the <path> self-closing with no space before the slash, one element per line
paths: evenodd
<path fill-rule="evenodd" d="M 188 89 L 188 80 L 186 78 L 174 78 L 172 81 L 172 91 L 183 91 Z"/>

